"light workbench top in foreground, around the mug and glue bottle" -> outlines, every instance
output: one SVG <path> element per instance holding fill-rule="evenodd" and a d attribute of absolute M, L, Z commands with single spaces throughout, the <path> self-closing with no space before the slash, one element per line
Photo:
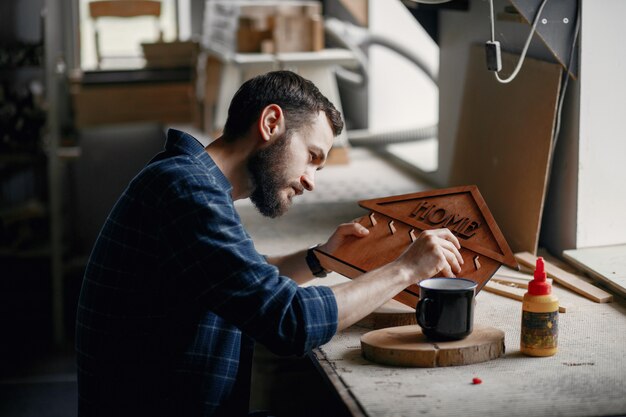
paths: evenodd
<path fill-rule="evenodd" d="M 344 280 L 331 277 L 328 285 Z M 605 416 L 626 414 L 626 303 L 598 304 L 558 285 L 559 351 L 520 353 L 522 304 L 482 291 L 475 325 L 505 332 L 503 357 L 474 365 L 401 368 L 361 355 L 358 324 L 310 355 L 354 416 Z M 473 378 L 482 383 L 473 384 Z"/>

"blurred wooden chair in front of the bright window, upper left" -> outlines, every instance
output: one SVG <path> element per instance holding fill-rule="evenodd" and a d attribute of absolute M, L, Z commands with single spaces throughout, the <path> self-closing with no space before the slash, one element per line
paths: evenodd
<path fill-rule="evenodd" d="M 89 3 L 89 15 L 94 21 L 96 58 L 98 68 L 102 67 L 102 49 L 100 45 L 100 28 L 98 20 L 102 17 L 133 18 L 152 16 L 155 18 L 158 40 L 163 40 L 161 27 L 161 2 L 159 0 L 98 0 Z M 123 56 L 109 56 L 108 58 L 128 58 Z"/>

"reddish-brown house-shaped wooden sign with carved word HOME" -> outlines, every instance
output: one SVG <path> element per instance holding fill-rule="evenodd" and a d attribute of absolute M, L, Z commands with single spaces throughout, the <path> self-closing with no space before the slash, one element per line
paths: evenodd
<path fill-rule="evenodd" d="M 359 205 L 370 211 L 359 220 L 369 235 L 351 238 L 333 253 L 316 249 L 324 268 L 356 278 L 396 259 L 421 231 L 442 227 L 461 244 L 464 264 L 457 276 L 475 281 L 477 291 L 500 265 L 518 268 L 476 186 L 364 200 Z M 411 285 L 394 298 L 415 307 L 418 297 L 419 287 Z"/>

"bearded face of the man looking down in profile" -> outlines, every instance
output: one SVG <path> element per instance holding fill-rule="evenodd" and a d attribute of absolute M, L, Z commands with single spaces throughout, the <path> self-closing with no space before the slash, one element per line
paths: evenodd
<path fill-rule="evenodd" d="M 333 138 L 326 114 L 320 112 L 311 126 L 284 133 L 252 155 L 250 200 L 261 214 L 283 215 L 293 197 L 313 191 L 315 171 L 324 166 Z"/>

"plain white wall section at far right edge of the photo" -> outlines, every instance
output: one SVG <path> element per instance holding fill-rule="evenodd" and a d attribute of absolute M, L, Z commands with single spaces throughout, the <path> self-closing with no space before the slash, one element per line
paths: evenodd
<path fill-rule="evenodd" d="M 626 243 L 626 1 L 582 2 L 577 247 Z"/>

